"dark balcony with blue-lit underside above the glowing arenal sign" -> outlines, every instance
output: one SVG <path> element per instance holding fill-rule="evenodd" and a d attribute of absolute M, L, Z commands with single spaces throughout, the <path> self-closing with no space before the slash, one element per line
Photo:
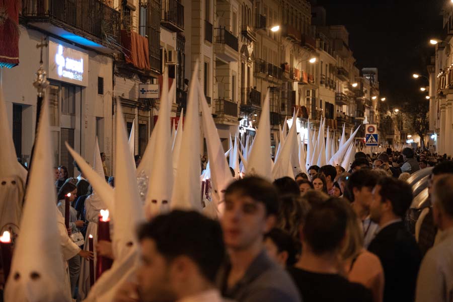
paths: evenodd
<path fill-rule="evenodd" d="M 21 21 L 102 53 L 121 50 L 120 12 L 100 0 L 22 0 Z"/>

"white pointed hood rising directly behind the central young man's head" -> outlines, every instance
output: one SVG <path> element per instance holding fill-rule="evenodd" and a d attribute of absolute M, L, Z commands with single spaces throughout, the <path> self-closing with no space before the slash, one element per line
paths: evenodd
<path fill-rule="evenodd" d="M 270 107 L 269 89 L 264 98 L 261 110 L 260 122 L 256 133 L 253 147 L 250 150 L 250 158 L 247 165 L 248 175 L 257 175 L 269 181 L 272 180 L 272 167 L 270 158 Z"/>

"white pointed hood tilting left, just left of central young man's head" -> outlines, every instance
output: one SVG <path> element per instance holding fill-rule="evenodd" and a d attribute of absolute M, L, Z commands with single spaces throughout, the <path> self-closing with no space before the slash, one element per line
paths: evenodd
<path fill-rule="evenodd" d="M 192 80 L 193 81 L 193 80 Z M 201 97 L 201 112 L 203 119 L 204 134 L 206 137 L 206 147 L 208 158 L 210 162 L 212 190 L 211 195 L 213 201 L 216 202 L 217 208 L 223 202 L 223 192 L 226 187 L 233 181 L 228 162 L 226 161 L 226 154 L 223 152 L 222 143 L 218 136 L 217 128 L 215 127 L 212 114 L 206 102 L 204 94 L 202 94 L 201 85 L 197 81 L 198 93 Z M 231 150 L 231 149 L 230 149 Z M 228 152 L 227 152 L 228 154 Z"/>

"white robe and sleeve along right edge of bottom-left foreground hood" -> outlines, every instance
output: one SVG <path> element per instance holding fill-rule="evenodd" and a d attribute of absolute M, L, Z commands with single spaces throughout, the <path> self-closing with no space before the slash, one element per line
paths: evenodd
<path fill-rule="evenodd" d="M 64 224 L 64 217 L 61 215 L 61 212 L 55 206 L 56 215 L 57 215 L 57 225 L 58 225 L 58 234 L 61 246 L 61 256 L 63 261 L 63 266 L 66 272 L 66 278 L 64 280 L 65 283 L 65 292 L 68 297 L 70 297 L 70 301 L 72 300 L 71 296 L 71 284 L 69 280 L 69 270 L 67 266 L 67 261 L 74 257 L 75 255 L 80 253 L 80 248 L 69 238 L 67 235 L 66 225 Z"/>

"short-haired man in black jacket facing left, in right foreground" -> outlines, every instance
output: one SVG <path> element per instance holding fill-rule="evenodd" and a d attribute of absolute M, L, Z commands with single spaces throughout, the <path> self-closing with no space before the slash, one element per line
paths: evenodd
<path fill-rule="evenodd" d="M 404 181 L 386 177 L 372 194 L 370 216 L 380 230 L 368 250 L 379 257 L 384 268 L 384 302 L 413 301 L 421 253 L 403 222 L 412 189 Z"/>

